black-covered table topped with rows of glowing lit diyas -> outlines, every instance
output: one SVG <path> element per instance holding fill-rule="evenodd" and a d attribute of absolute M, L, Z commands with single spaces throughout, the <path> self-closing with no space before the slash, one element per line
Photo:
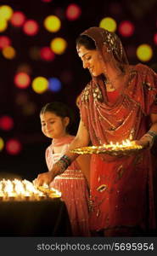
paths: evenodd
<path fill-rule="evenodd" d="M 71 236 L 61 193 L 20 179 L 0 180 L 0 236 Z"/>

